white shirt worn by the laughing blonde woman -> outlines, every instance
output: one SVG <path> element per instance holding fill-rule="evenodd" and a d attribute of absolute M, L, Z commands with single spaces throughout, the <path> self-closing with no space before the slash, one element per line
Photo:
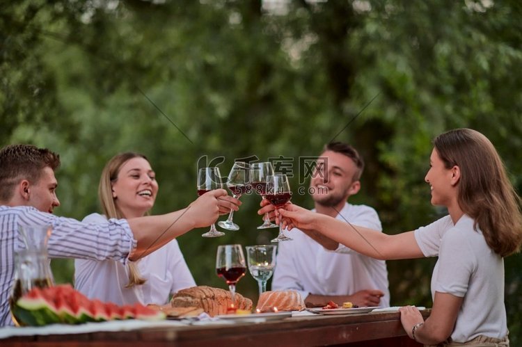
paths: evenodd
<path fill-rule="evenodd" d="M 86 223 L 106 222 L 98 213 L 84 218 Z M 125 288 L 129 283 L 127 266 L 118 261 L 74 260 L 74 287 L 90 299 L 117 305 L 164 305 L 168 296 L 180 289 L 196 286 L 180 246 L 173 240 L 137 261 L 141 277 L 147 282 Z"/>

